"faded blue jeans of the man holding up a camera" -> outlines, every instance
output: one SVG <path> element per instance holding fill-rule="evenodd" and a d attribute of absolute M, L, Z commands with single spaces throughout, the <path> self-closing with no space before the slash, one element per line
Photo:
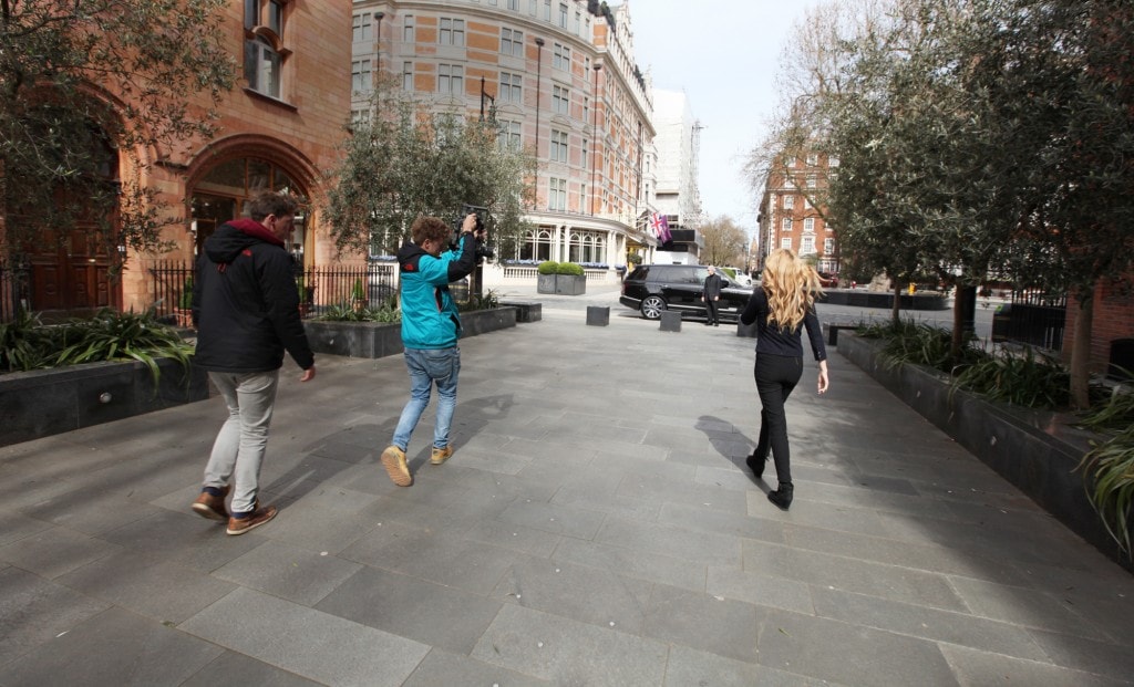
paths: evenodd
<path fill-rule="evenodd" d="M 452 412 L 457 407 L 457 375 L 460 374 L 460 349 L 407 348 L 406 367 L 409 368 L 409 402 L 401 409 L 398 429 L 393 431 L 393 446 L 403 451 L 409 446 L 417 421 L 429 406 L 430 391 L 437 382 L 437 422 L 433 427 L 433 446 L 443 449 L 449 446 L 449 426 Z"/>

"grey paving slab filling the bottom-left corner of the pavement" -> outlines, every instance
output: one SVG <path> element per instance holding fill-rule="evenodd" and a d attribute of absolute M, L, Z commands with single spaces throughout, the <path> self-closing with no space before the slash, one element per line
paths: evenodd
<path fill-rule="evenodd" d="M 152 619 L 110 608 L 5 665 L 6 687 L 175 687 L 221 648 Z"/>

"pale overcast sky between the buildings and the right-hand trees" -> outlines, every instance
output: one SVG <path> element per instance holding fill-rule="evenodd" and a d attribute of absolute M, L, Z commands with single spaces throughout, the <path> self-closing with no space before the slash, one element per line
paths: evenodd
<path fill-rule="evenodd" d="M 684 91 L 705 127 L 699 175 L 705 215 L 729 215 L 754 234 L 759 202 L 743 178 L 744 159 L 776 105 L 784 43 L 819 1 L 626 1 L 638 66 L 655 88 Z"/>

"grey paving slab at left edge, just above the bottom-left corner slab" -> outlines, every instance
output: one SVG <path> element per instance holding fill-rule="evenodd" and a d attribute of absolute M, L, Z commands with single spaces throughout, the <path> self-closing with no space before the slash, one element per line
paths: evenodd
<path fill-rule="evenodd" d="M 108 608 L 19 568 L 0 569 L 0 667 Z"/>

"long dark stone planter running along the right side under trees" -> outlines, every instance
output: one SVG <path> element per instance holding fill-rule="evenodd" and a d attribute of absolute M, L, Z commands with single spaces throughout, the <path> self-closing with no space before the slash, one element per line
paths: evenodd
<path fill-rule="evenodd" d="M 960 390 L 931 370 L 889 365 L 880 343 L 850 331 L 839 353 L 925 419 L 1014 484 L 1095 549 L 1127 570 L 1134 561 L 1107 534 L 1075 472 L 1095 436 L 1068 426 L 1069 416 L 985 400 Z"/>

